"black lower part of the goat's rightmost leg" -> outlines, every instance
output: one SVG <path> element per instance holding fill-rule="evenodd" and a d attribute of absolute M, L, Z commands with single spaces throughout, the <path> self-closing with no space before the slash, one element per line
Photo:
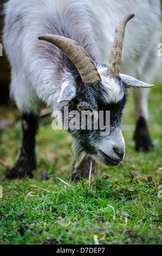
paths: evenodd
<path fill-rule="evenodd" d="M 147 123 L 143 117 L 140 117 L 137 121 L 133 139 L 135 141 L 136 151 L 142 150 L 147 152 L 150 148 L 154 148 Z"/>

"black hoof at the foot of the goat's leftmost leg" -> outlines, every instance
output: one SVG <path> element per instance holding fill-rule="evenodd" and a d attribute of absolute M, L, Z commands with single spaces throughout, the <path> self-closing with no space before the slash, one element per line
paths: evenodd
<path fill-rule="evenodd" d="M 29 167 L 28 162 L 26 161 L 24 162 L 23 157 L 20 157 L 16 165 L 7 171 L 5 178 L 6 179 L 16 179 L 16 178 L 22 179 L 25 175 L 27 175 L 29 178 L 32 178 L 33 177 L 32 170 L 33 169 Z"/>

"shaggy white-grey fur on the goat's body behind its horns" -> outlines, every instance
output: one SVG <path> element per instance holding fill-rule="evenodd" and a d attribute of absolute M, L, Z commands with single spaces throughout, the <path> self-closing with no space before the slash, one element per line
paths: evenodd
<path fill-rule="evenodd" d="M 67 58 L 49 42 L 38 41 L 41 34 L 66 36 L 93 60 L 108 62 L 118 20 L 134 12 L 125 32 L 121 73 L 146 82 L 151 79 L 157 66 L 154 40 L 160 1 L 101 1 L 10 0 L 5 4 L 3 45 L 12 69 L 10 90 L 22 112 L 38 113 L 39 99 L 55 107 L 61 81 L 69 72 Z"/>

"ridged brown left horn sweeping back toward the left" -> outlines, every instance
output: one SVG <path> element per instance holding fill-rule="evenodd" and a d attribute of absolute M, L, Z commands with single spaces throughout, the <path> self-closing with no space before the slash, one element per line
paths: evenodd
<path fill-rule="evenodd" d="M 60 48 L 74 63 L 84 83 L 101 81 L 100 74 L 88 53 L 72 39 L 60 35 L 40 35 L 40 40 L 46 40 Z"/>

